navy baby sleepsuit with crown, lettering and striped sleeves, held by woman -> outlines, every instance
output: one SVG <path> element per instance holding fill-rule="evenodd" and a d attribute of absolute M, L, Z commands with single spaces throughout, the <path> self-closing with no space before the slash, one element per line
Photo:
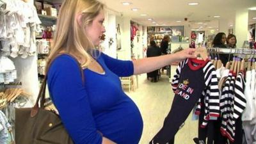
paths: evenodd
<path fill-rule="evenodd" d="M 210 90 L 210 109 L 209 113 L 205 114 L 205 118 L 219 116 L 218 80 L 211 61 L 188 59 L 180 65 L 184 65 L 184 67 L 177 68 L 180 69 L 180 77 L 175 90 L 172 108 L 166 117 L 166 124 L 154 136 L 152 140 L 154 143 L 165 144 L 175 136 L 180 125 L 186 120 L 205 88 Z"/>

